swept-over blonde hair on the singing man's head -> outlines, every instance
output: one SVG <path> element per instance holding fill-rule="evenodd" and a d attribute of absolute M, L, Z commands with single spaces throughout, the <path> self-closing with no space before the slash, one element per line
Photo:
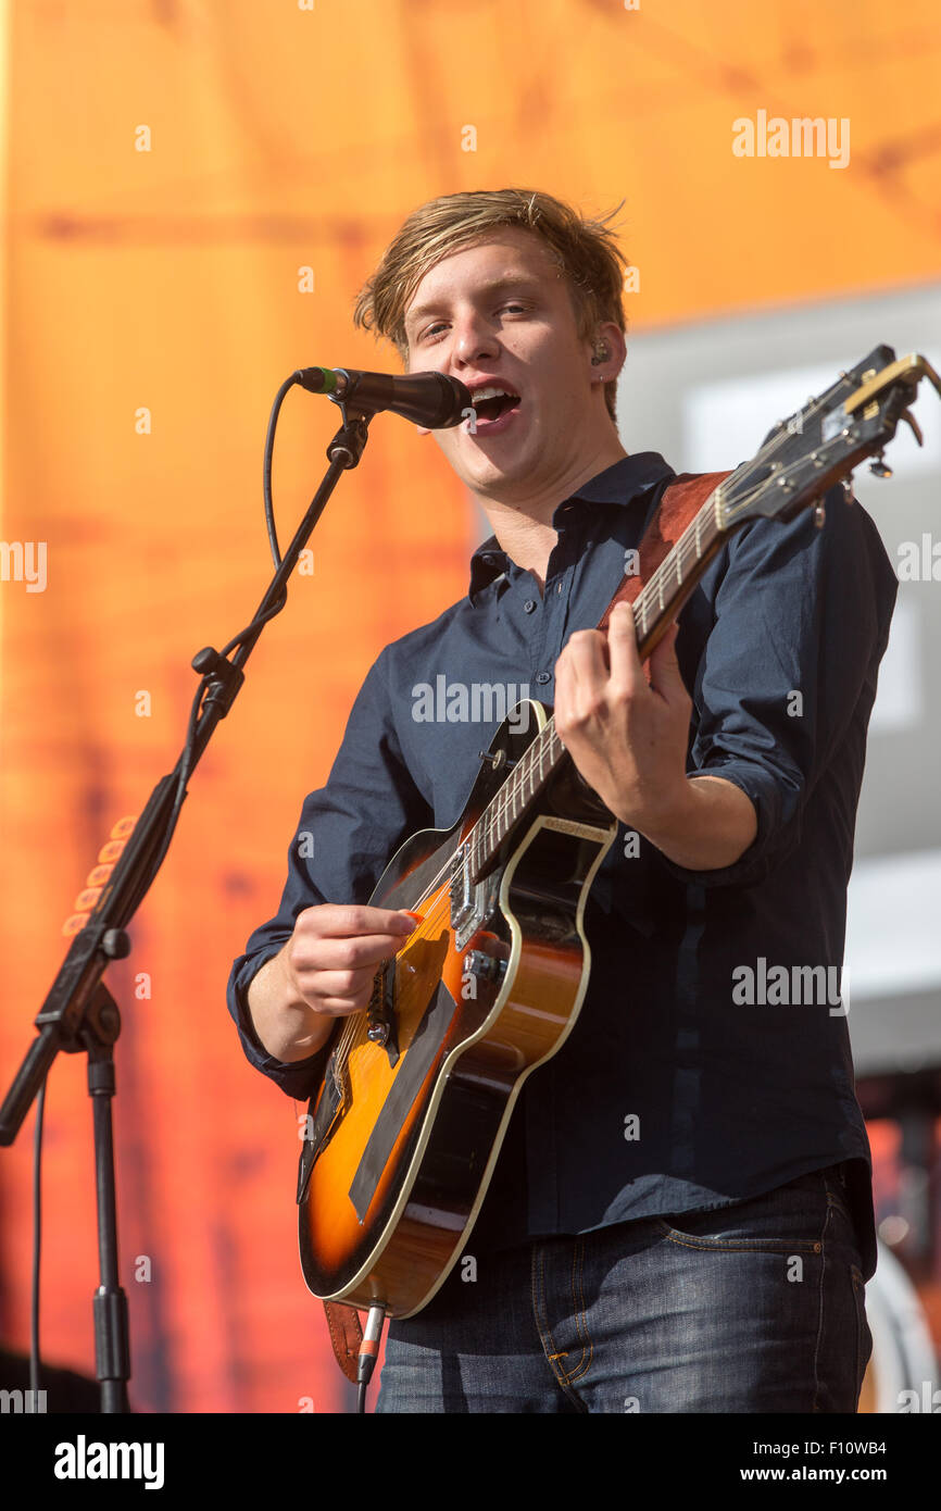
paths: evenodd
<path fill-rule="evenodd" d="M 384 335 L 408 366 L 405 311 L 429 267 L 483 240 L 500 225 L 515 225 L 544 242 L 565 278 L 580 340 L 592 340 L 606 320 L 625 331 L 622 296 L 628 263 L 607 228 L 622 204 L 601 219 L 588 219 L 538 189 L 471 189 L 429 199 L 403 221 L 376 272 L 356 295 L 353 325 Z M 604 402 L 615 426 L 616 396 L 618 379 L 610 378 Z"/>

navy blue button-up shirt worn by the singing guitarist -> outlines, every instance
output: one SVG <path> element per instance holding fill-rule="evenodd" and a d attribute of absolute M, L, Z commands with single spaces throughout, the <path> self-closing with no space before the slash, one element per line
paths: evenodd
<path fill-rule="evenodd" d="M 233 966 L 248 1059 L 305 1098 L 328 1049 L 292 1065 L 260 1046 L 246 988 L 319 902 L 367 902 L 415 830 L 449 828 L 504 707 L 553 701 L 554 663 L 594 629 L 672 468 L 622 458 L 553 515 L 544 594 L 495 538 L 467 597 L 388 645 L 323 789 L 304 799 L 276 914 Z M 853 1091 L 840 967 L 876 671 L 897 580 L 878 530 L 834 488 L 826 524 L 758 520 L 730 536 L 680 615 L 693 700 L 687 771 L 755 805 L 754 843 L 693 872 L 618 827 L 592 885 L 588 991 L 560 1052 L 524 1083 L 473 1253 L 527 1238 L 719 1207 L 850 1162 L 864 1274 L 875 1269 L 870 1151 Z M 482 689 L 489 689 L 482 692 Z"/>

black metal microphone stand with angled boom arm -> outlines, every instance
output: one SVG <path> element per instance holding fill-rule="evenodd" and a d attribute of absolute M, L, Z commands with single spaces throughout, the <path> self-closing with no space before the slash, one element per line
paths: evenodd
<path fill-rule="evenodd" d="M 296 379 L 292 379 L 296 381 Z M 290 384 L 282 385 L 278 403 Z M 332 396 L 331 396 L 332 397 Z M 128 1411 L 130 1339 L 127 1293 L 118 1277 L 118 1216 L 115 1200 L 115 1150 L 112 1098 L 115 1095 L 113 1047 L 121 1032 L 121 1014 L 101 976 L 110 959 L 130 953 L 127 925 L 154 882 L 174 830 L 186 784 L 210 737 L 231 709 L 245 681 L 242 668 L 261 630 L 287 603 L 287 579 L 317 524 L 340 474 L 356 467 L 369 440 L 369 422 L 376 413 L 369 403 L 355 406 L 332 397 L 343 425 L 331 440 L 329 467 L 317 488 L 281 565 L 275 571 L 255 616 L 246 630 L 222 651 L 211 645 L 193 656 L 201 675 L 193 701 L 186 745 L 174 771 L 162 777 L 101 896 L 85 926 L 76 934 L 53 987 L 35 1018 L 39 1031 L 0 1108 L 0 1145 L 12 1144 L 48 1070 L 60 1050 L 88 1055 L 88 1091 L 92 1098 L 95 1191 L 98 1207 L 100 1286 L 94 1296 L 95 1373 L 101 1387 L 101 1411 Z M 237 647 L 228 660 L 228 651 Z"/>

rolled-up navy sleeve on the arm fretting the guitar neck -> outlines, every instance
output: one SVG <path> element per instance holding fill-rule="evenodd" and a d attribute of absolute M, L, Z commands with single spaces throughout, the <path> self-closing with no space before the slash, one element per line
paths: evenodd
<path fill-rule="evenodd" d="M 807 802 L 828 766 L 846 757 L 847 772 L 858 763 L 861 777 L 897 579 L 872 518 L 841 487 L 825 506 L 822 529 L 811 511 L 788 524 L 745 526 L 716 573 L 687 775 L 734 783 L 758 827 L 731 866 L 689 870 L 665 858 L 689 882 L 763 881 L 801 843 Z"/>

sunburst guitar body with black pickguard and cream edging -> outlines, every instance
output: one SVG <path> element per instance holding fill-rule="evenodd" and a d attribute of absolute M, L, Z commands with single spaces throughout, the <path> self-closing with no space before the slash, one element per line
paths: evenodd
<path fill-rule="evenodd" d="M 421 923 L 376 978 L 376 1012 L 343 1020 L 311 1097 L 299 1241 L 322 1299 L 381 1301 L 400 1318 L 430 1301 L 465 1248 L 526 1077 L 582 1006 L 582 914 L 615 836 L 610 814 L 562 816 L 550 789 L 471 888 L 480 916 L 453 920 L 452 858 L 545 724 L 529 703 L 532 733 L 518 733 L 520 709 L 497 730 L 458 823 L 412 836 L 370 898 Z M 578 811 L 571 790 L 565 811 Z M 367 1037 L 376 1021 L 391 1024 L 385 1044 Z"/>

